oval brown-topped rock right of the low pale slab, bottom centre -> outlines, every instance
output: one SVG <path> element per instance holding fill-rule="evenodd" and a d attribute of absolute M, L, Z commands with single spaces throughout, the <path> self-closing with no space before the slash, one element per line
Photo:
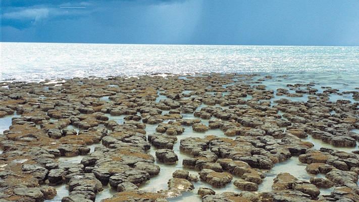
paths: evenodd
<path fill-rule="evenodd" d="M 199 178 L 214 187 L 224 187 L 233 179 L 232 175 L 229 173 L 219 173 L 210 169 L 201 170 L 199 173 Z"/>

